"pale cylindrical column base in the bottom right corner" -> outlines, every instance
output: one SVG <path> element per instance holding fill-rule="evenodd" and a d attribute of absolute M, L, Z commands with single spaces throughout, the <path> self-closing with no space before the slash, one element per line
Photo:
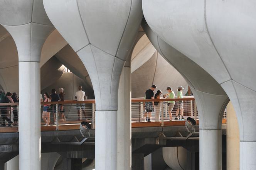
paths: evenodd
<path fill-rule="evenodd" d="M 256 141 L 240 141 L 240 170 L 256 169 Z"/>

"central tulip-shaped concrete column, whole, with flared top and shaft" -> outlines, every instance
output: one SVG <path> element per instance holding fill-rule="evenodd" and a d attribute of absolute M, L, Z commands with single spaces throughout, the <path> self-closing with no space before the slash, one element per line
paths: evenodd
<path fill-rule="evenodd" d="M 141 1 L 44 0 L 44 8 L 81 58 L 93 84 L 96 169 L 115 170 L 118 85 L 140 26 Z"/>

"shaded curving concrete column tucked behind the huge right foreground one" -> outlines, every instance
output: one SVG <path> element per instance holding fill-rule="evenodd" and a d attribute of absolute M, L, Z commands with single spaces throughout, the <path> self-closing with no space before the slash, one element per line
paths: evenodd
<path fill-rule="evenodd" d="M 200 169 L 221 169 L 221 123 L 229 98 L 209 73 L 164 42 L 145 20 L 142 26 L 157 51 L 180 72 L 192 89 L 200 122 Z"/>

